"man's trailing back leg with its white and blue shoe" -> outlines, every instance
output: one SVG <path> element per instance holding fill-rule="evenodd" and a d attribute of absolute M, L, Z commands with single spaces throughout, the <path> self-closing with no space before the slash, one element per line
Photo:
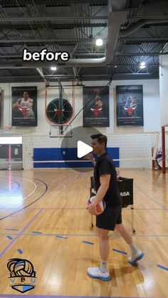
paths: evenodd
<path fill-rule="evenodd" d="M 132 235 L 128 230 L 122 225 L 122 223 L 115 225 L 115 229 L 118 233 L 124 238 L 125 242 L 130 245 L 130 250 L 132 252 L 131 257 L 128 258 L 128 262 L 131 265 L 135 265 L 137 261 L 141 260 L 144 257 L 144 253 L 141 250 L 138 250 L 135 243 L 132 240 Z"/>

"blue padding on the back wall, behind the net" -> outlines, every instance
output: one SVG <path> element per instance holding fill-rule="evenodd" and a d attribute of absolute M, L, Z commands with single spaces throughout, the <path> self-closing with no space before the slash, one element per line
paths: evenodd
<path fill-rule="evenodd" d="M 65 154 L 63 154 L 65 151 Z M 107 153 L 112 159 L 119 159 L 120 150 L 118 147 L 108 147 Z M 68 163 L 64 161 L 67 160 Z M 74 161 L 78 162 L 74 162 Z M 46 161 L 45 163 L 36 162 L 33 164 L 34 168 L 93 168 L 90 161 L 83 162 L 84 159 L 78 159 L 77 148 L 34 148 L 33 161 Z M 51 162 L 47 162 L 51 161 Z M 63 162 L 52 162 L 63 161 Z M 119 167 L 120 162 L 115 161 L 115 166 Z"/>

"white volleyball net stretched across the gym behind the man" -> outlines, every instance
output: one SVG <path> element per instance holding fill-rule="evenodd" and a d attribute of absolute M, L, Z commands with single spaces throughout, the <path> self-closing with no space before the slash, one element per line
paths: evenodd
<path fill-rule="evenodd" d="M 22 134 L 21 144 L 3 144 L 3 137 L 6 136 L 10 143 L 10 139 L 16 136 L 11 132 L 12 129 L 8 132 L 5 130 L 3 134 L 0 131 L 0 169 L 9 169 L 9 164 L 10 169 L 67 168 L 61 147 L 62 137 Z M 115 161 L 115 166 L 122 169 L 152 169 L 152 160 L 162 146 L 159 132 L 106 135 L 107 152 Z M 167 133 L 165 135 L 167 136 Z M 90 138 L 89 134 L 88 137 Z M 66 156 L 70 161 L 74 161 L 75 166 L 85 168 L 87 161 L 75 156 L 77 140 L 80 140 L 80 136 L 73 135 L 70 141 L 67 141 Z M 88 141 L 86 143 L 88 144 Z M 20 165 L 19 168 L 16 165 Z"/>

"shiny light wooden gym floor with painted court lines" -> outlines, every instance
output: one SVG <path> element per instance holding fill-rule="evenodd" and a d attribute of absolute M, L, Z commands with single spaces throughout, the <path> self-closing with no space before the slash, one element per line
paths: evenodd
<path fill-rule="evenodd" d="M 145 257 L 129 265 L 128 246 L 110 233 L 112 280 L 101 282 L 86 274 L 99 261 L 96 228 L 85 210 L 92 172 L 0 171 L 0 297 L 168 297 L 167 176 L 149 170 L 120 175 L 134 179 L 133 238 Z M 131 230 L 129 207 L 122 218 Z M 11 288 L 11 258 L 29 260 L 36 271 L 36 287 L 25 294 Z"/>

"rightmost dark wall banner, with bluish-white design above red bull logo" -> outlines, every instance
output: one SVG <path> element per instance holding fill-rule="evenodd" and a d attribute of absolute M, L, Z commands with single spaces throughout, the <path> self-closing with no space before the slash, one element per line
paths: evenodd
<path fill-rule="evenodd" d="M 116 86 L 117 126 L 143 126 L 143 86 Z"/>

